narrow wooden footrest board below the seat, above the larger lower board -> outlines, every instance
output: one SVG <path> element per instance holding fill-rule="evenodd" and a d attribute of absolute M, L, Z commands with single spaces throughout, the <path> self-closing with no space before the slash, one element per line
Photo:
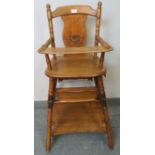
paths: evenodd
<path fill-rule="evenodd" d="M 56 103 L 96 102 L 97 91 L 95 87 L 58 88 L 56 90 Z"/>

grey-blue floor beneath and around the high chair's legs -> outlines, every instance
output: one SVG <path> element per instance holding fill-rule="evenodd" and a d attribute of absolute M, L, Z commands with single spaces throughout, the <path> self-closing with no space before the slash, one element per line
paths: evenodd
<path fill-rule="evenodd" d="M 119 155 L 120 154 L 120 104 L 119 99 L 109 99 L 108 107 L 112 126 L 114 148 L 110 150 L 104 134 L 82 133 L 54 137 L 52 150 L 45 152 L 47 103 L 34 103 L 34 155 Z"/>

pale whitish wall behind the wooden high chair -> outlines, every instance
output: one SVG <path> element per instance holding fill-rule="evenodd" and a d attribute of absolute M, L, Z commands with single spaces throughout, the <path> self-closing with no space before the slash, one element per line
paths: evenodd
<path fill-rule="evenodd" d="M 97 8 L 97 0 L 35 0 L 34 8 L 34 99 L 47 100 L 48 78 L 44 75 L 46 62 L 43 55 L 38 54 L 37 49 L 49 38 L 49 29 L 46 15 L 46 4 L 50 3 L 52 10 L 63 5 L 90 5 Z M 102 0 L 102 36 L 114 50 L 106 54 L 105 66 L 107 77 L 105 89 L 108 98 L 120 97 L 120 3 L 119 0 Z M 95 36 L 95 18 L 87 19 L 87 45 L 92 46 Z M 60 18 L 54 19 L 54 33 L 56 46 L 63 47 L 62 41 L 63 22 Z M 89 81 L 66 81 L 59 87 L 89 86 Z"/>

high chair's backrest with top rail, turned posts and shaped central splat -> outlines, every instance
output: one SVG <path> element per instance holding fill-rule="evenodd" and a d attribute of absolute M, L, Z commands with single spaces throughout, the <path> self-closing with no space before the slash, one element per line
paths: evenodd
<path fill-rule="evenodd" d="M 96 17 L 96 32 L 95 32 L 95 45 L 98 45 L 97 36 L 100 32 L 100 19 L 101 19 L 101 6 L 102 3 L 98 2 L 97 10 L 90 6 L 71 5 L 58 7 L 53 12 L 51 7 L 47 4 L 47 17 L 52 39 L 51 45 L 55 47 L 54 32 L 53 32 L 53 18 L 61 17 L 64 22 L 63 28 L 63 41 L 66 47 L 80 47 L 85 46 L 86 42 L 86 18 L 87 16 Z"/>

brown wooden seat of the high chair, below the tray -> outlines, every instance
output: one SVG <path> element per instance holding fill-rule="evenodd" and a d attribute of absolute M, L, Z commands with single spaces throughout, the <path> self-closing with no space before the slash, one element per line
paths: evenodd
<path fill-rule="evenodd" d="M 52 70 L 46 69 L 46 75 L 54 78 L 88 78 L 103 75 L 106 70 L 99 65 L 99 59 L 93 55 L 66 55 L 51 60 Z"/>

